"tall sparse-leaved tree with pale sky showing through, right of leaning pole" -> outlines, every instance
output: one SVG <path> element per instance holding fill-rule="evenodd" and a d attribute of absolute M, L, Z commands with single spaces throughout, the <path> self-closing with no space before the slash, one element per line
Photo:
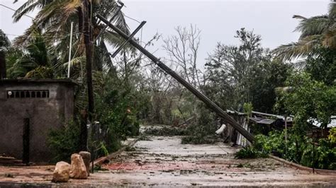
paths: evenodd
<path fill-rule="evenodd" d="M 208 94 L 222 107 L 242 107 L 250 102 L 252 69 L 262 61 L 269 61 L 267 49 L 261 47 L 260 35 L 255 35 L 245 28 L 237 30 L 235 37 L 240 45 L 230 46 L 218 43 L 206 63 Z"/>

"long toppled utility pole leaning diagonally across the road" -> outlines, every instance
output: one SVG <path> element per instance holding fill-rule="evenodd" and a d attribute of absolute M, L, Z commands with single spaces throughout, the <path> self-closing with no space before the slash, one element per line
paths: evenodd
<path fill-rule="evenodd" d="M 118 35 L 121 35 L 121 37 L 123 37 L 125 40 L 128 40 L 128 42 L 130 42 L 131 45 L 133 45 L 140 52 L 142 52 L 143 54 L 145 54 L 149 59 L 151 59 L 155 64 L 157 64 L 157 66 L 159 66 L 167 74 L 169 74 L 170 76 L 172 76 L 173 78 L 175 78 L 177 81 L 179 81 L 179 83 L 181 83 L 184 87 L 186 87 L 199 100 L 201 100 L 202 102 L 204 102 L 209 108 L 211 108 L 211 110 L 213 110 L 216 114 L 218 114 L 220 117 L 222 117 L 223 120 L 226 123 L 232 125 L 235 129 L 237 129 L 238 132 L 240 132 L 240 134 L 242 134 L 242 136 L 244 136 L 248 141 L 250 141 L 251 143 L 253 143 L 254 136 L 249 131 L 245 130 L 242 126 L 240 126 L 240 124 L 238 124 L 235 121 L 235 119 L 233 119 L 232 117 L 230 117 L 230 115 L 228 115 L 224 110 L 222 110 L 220 107 L 218 107 L 218 105 L 216 105 L 208 97 L 206 97 L 206 95 L 203 95 L 203 93 L 201 93 L 196 88 L 194 88 L 194 86 L 192 86 L 189 82 L 187 82 L 186 80 L 184 80 L 184 78 L 182 78 L 177 73 L 175 73 L 174 71 L 172 71 L 172 69 L 170 69 L 167 65 L 163 64 L 162 61 L 160 61 L 157 57 L 155 57 L 153 54 L 151 54 L 150 52 L 148 52 L 147 49 L 145 49 L 144 47 L 142 47 L 141 45 L 139 45 L 138 42 L 135 42 L 132 38 L 130 38 L 125 33 L 123 33 L 123 31 L 121 31 L 120 29 L 118 29 L 113 24 L 109 23 L 108 20 L 106 20 L 105 18 L 103 18 L 103 16 L 97 14 L 96 17 L 99 18 L 100 20 L 102 20 L 103 23 L 105 23 L 106 25 L 108 25 L 108 27 L 110 27 L 111 29 L 115 30 L 116 33 L 118 33 Z"/>

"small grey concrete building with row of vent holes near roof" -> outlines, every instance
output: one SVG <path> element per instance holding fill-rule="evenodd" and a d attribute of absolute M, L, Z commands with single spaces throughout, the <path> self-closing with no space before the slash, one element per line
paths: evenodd
<path fill-rule="evenodd" d="M 0 80 L 0 154 L 49 161 L 47 134 L 72 117 L 75 85 L 70 80 Z"/>

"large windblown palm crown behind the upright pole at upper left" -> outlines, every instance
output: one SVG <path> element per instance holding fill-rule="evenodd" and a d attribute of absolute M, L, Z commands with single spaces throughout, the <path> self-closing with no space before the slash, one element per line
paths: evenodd
<path fill-rule="evenodd" d="M 33 19 L 33 25 L 37 25 L 40 30 L 44 31 L 43 37 L 45 37 L 47 43 L 52 45 L 56 44 L 55 50 L 61 57 L 59 64 L 56 66 L 60 67 L 67 64 L 68 60 L 67 49 L 69 49 L 69 28 L 71 22 L 74 22 L 74 28 L 77 28 L 78 30 L 73 36 L 74 52 L 72 52 L 72 54 L 75 54 L 75 57 L 84 56 L 84 35 L 82 34 L 84 28 L 84 2 L 85 1 L 82 0 L 30 0 L 16 10 L 13 18 L 14 21 L 18 21 L 24 14 L 34 11 L 35 9 L 40 9 Z M 105 18 L 111 18 L 111 16 L 116 13 L 118 4 L 115 0 L 95 0 L 92 1 L 90 6 L 91 5 L 91 34 L 95 39 L 103 27 L 101 23 L 94 18 L 94 14 L 99 13 Z M 115 24 L 125 33 L 129 33 L 128 25 L 125 23 L 123 13 L 118 13 L 118 16 L 115 18 Z M 31 25 L 23 35 L 14 40 L 14 45 L 18 47 L 28 45 L 30 38 L 33 37 L 33 25 Z M 103 67 L 111 68 L 112 61 L 108 54 L 106 42 L 108 42 L 109 45 L 121 44 L 121 38 L 116 36 L 116 33 L 113 33 L 113 31 L 105 30 L 100 39 L 96 40 L 93 52 L 95 57 L 94 60 L 98 60 L 93 62 L 94 69 L 101 71 Z M 79 58 L 76 59 L 76 61 L 78 62 L 81 59 L 83 60 L 83 58 Z M 105 61 L 99 61 L 101 59 L 104 59 Z"/>

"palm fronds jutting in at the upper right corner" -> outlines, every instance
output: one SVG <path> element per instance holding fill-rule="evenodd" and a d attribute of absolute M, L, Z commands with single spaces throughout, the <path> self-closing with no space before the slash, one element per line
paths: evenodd
<path fill-rule="evenodd" d="M 336 0 L 330 3 L 326 15 L 306 18 L 294 15 L 300 23 L 295 31 L 301 32 L 298 42 L 291 42 L 288 45 L 281 45 L 274 49 L 277 57 L 290 60 L 308 55 L 318 55 L 316 49 L 326 47 L 336 49 Z"/>

